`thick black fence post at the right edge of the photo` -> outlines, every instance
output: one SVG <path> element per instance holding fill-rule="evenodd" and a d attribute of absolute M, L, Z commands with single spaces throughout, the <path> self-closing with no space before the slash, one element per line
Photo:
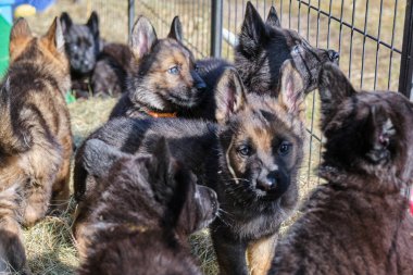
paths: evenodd
<path fill-rule="evenodd" d="M 406 0 L 399 91 L 413 100 L 413 0 Z"/>

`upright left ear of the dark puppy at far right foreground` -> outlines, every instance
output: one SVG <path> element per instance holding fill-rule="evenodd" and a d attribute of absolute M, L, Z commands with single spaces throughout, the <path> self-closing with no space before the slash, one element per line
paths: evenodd
<path fill-rule="evenodd" d="M 355 90 L 337 65 L 326 62 L 320 72 L 318 92 L 322 114 L 328 116 L 345 99 L 353 96 Z"/>

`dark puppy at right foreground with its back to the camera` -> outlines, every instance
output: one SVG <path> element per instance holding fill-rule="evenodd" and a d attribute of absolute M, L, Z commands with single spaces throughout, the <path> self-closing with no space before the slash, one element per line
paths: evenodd
<path fill-rule="evenodd" d="M 278 242 L 270 274 L 413 274 L 413 217 L 401 195 L 413 178 L 413 103 L 356 92 L 333 64 L 320 96 L 327 184 Z"/>

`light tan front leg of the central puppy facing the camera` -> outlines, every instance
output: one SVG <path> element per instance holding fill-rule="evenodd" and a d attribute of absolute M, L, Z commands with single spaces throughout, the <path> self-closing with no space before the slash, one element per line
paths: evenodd
<path fill-rule="evenodd" d="M 247 257 L 251 275 L 267 274 L 274 258 L 277 239 L 278 234 L 274 234 L 248 245 Z"/>

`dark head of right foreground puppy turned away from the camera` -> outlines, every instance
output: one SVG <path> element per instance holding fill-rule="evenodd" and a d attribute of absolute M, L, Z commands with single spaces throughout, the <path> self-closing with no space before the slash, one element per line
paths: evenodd
<path fill-rule="evenodd" d="M 318 85 L 324 165 L 379 182 L 411 178 L 413 104 L 397 92 L 356 92 L 331 63 L 323 66 Z"/>

